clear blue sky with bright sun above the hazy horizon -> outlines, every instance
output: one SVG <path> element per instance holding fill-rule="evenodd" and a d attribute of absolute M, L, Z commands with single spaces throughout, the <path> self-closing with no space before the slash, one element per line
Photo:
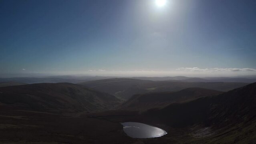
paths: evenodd
<path fill-rule="evenodd" d="M 256 0 L 0 0 L 6 73 L 254 75 Z"/>

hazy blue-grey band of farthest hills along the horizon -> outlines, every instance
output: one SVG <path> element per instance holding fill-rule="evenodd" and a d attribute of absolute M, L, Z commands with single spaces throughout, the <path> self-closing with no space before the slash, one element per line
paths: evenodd
<path fill-rule="evenodd" d="M 35 83 L 58 83 L 69 82 L 73 84 L 83 83 L 94 80 L 114 79 L 110 76 L 44 76 L 44 77 L 13 77 L 0 78 L 0 82 L 18 82 L 26 84 Z M 171 81 L 171 82 L 243 82 L 253 83 L 256 78 L 192 78 L 185 76 L 166 76 L 166 77 L 132 77 L 128 79 L 150 80 L 150 81 Z"/>

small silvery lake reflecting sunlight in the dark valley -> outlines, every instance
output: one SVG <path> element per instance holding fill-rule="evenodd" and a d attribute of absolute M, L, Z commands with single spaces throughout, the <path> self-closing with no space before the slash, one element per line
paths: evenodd
<path fill-rule="evenodd" d="M 123 130 L 132 138 L 155 138 L 167 134 L 165 130 L 139 122 L 123 122 Z"/>

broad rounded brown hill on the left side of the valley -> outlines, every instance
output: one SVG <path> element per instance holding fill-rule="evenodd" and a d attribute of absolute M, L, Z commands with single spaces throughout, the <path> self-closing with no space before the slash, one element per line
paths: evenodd
<path fill-rule="evenodd" d="M 0 88 L 0 102 L 42 111 L 92 111 L 113 108 L 115 96 L 70 83 L 40 83 Z"/>

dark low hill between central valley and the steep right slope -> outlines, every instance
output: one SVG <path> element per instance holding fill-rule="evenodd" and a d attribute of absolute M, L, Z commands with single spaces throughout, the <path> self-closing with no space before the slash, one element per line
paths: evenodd
<path fill-rule="evenodd" d="M 186 88 L 178 92 L 155 92 L 137 94 L 122 104 L 122 109 L 146 110 L 155 107 L 164 107 L 171 103 L 188 101 L 202 96 L 212 96 L 222 92 L 204 88 Z"/>

